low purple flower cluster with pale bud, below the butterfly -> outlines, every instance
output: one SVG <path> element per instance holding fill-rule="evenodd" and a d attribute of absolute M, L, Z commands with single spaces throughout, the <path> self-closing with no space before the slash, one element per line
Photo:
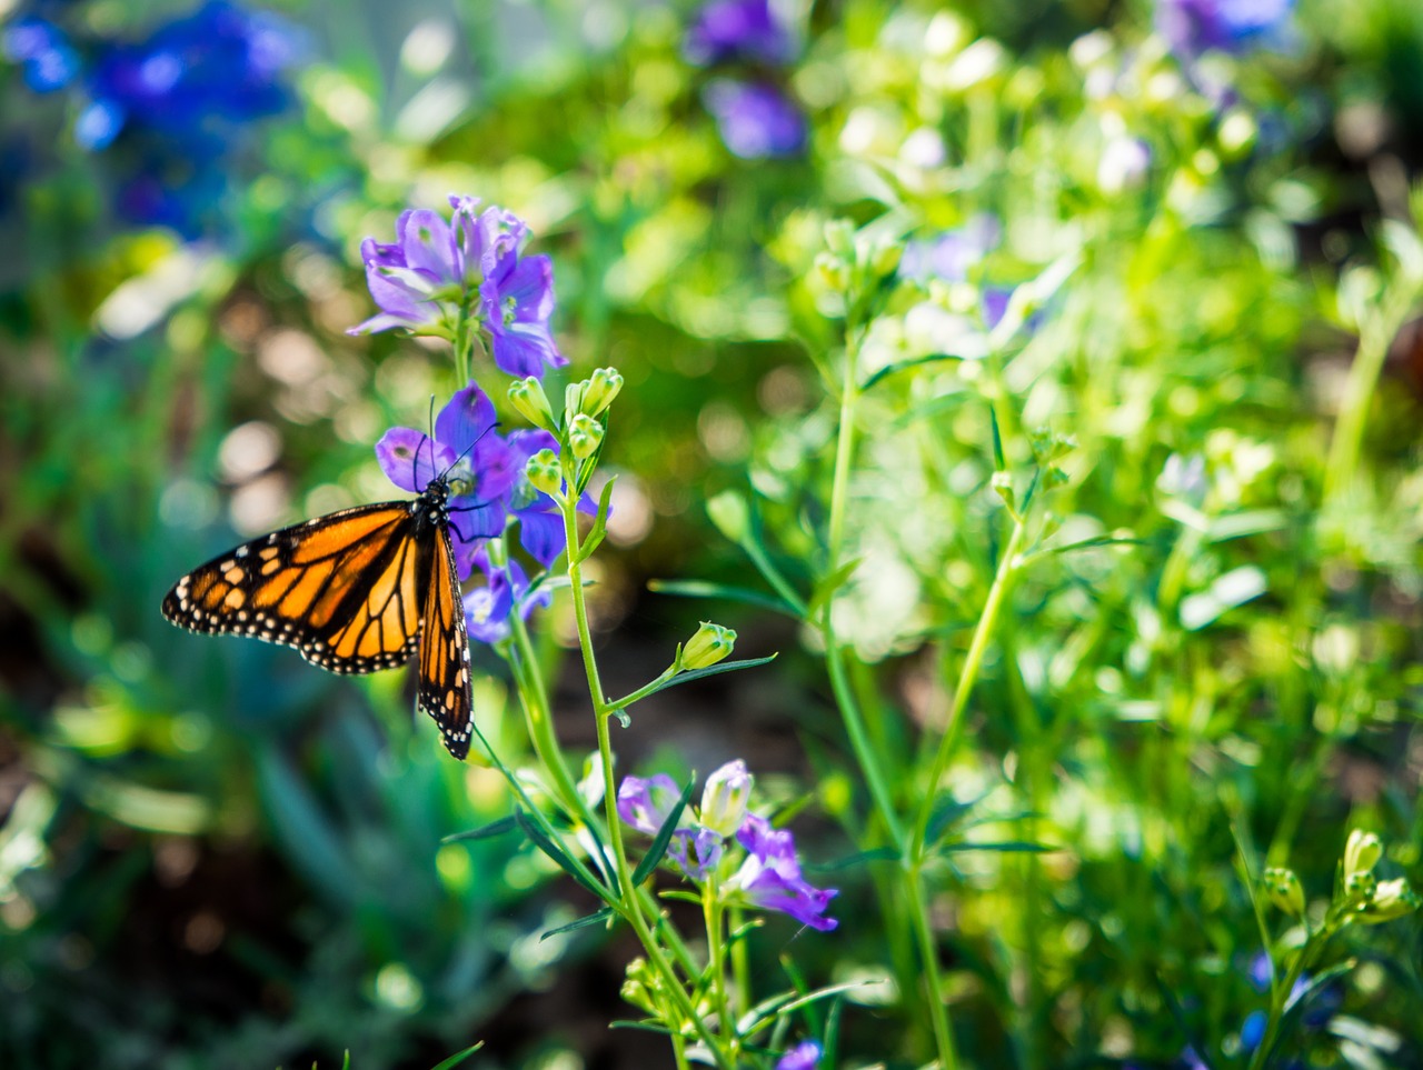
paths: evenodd
<path fill-rule="evenodd" d="M 714 879 L 734 901 L 781 911 L 813 929 L 834 929 L 838 922 L 825 911 L 838 892 L 807 884 L 794 837 L 748 811 L 751 783 L 741 760 L 707 777 L 702 807 L 679 824 L 667 855 L 692 881 Z M 618 788 L 618 814 L 639 832 L 656 835 L 679 798 L 677 785 L 665 774 L 626 777 Z M 734 868 L 727 854 L 731 839 L 744 852 Z"/>

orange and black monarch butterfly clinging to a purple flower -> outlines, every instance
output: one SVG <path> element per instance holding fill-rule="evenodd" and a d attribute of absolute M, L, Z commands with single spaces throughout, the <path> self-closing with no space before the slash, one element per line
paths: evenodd
<path fill-rule="evenodd" d="M 416 701 L 457 758 L 470 753 L 470 640 L 450 481 L 414 501 L 342 509 L 245 542 L 174 583 L 164 616 L 208 635 L 293 646 L 333 673 L 393 669 L 417 650 Z"/>

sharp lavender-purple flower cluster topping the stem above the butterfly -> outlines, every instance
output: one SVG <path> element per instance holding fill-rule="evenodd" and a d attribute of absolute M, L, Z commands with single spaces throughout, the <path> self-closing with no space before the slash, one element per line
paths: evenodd
<path fill-rule="evenodd" d="M 454 218 L 410 209 L 396 222 L 396 240 L 361 243 L 366 282 L 380 312 L 351 334 L 404 327 L 413 334 L 454 340 L 475 317 L 490 334 L 494 363 L 511 376 L 542 376 L 568 359 L 549 329 L 554 266 L 548 256 L 522 256 L 528 226 L 472 196 L 451 196 Z"/>

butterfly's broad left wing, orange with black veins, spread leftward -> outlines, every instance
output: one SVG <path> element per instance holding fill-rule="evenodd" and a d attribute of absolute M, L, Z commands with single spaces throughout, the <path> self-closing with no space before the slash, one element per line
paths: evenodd
<path fill-rule="evenodd" d="M 164 599 L 164 616 L 192 632 L 295 646 L 333 673 L 393 669 L 420 642 L 420 583 L 427 581 L 414 535 L 408 502 L 361 505 L 283 528 L 179 579 Z"/>

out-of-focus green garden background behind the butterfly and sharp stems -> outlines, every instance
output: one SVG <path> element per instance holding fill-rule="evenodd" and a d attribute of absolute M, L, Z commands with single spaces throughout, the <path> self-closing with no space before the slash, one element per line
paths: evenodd
<path fill-rule="evenodd" d="M 955 1022 L 985 1067 L 1191 1046 L 1244 1066 L 1261 938 L 1232 825 L 1316 896 L 1360 821 L 1423 872 L 1423 9 L 1261 0 L 1258 33 L 1173 28 L 1218 7 L 793 3 L 787 54 L 707 61 L 690 3 L 0 4 L 0 1064 L 349 1049 L 379 1070 L 477 1039 L 487 1066 L 667 1061 L 606 1027 L 629 1016 L 625 941 L 541 941 L 586 912 L 576 888 L 508 839 L 441 845 L 507 794 L 414 721 L 404 673 L 337 680 L 158 613 L 238 539 L 393 497 L 373 443 L 457 384 L 440 351 L 344 333 L 371 313 L 359 245 L 460 192 L 554 258 L 571 374 L 628 383 L 592 592 L 609 689 L 707 613 L 740 655 L 783 652 L 649 703 L 620 768 L 751 758 L 773 795 L 810 795 L 822 859 L 854 851 L 864 798 L 814 643 L 647 581 L 748 585 L 709 518 L 723 491 L 814 575 L 842 312 L 825 222 L 898 255 L 998 221 L 961 276 L 901 265 L 858 354 L 892 371 L 861 410 L 857 687 L 887 754 L 942 717 L 1000 538 L 989 408 L 1016 414 L 1020 471 L 1033 428 L 1074 435 L 1049 545 L 1131 542 L 1044 555 L 985 672 L 955 794 L 1064 851 L 958 862 Z M 727 80 L 770 87 L 804 139 L 739 155 Z M 968 353 L 995 295 L 1067 262 L 993 359 L 916 363 Z M 541 629 L 568 643 L 558 612 Z M 475 657 L 517 756 L 507 676 Z M 868 916 L 872 874 L 834 879 L 840 916 Z M 777 976 L 781 952 L 820 980 L 902 952 L 868 921 L 774 932 Z M 1419 1064 L 1417 923 L 1349 939 L 1362 966 L 1288 1057 Z M 916 1064 L 904 1013 L 857 996 L 844 1064 Z"/>

